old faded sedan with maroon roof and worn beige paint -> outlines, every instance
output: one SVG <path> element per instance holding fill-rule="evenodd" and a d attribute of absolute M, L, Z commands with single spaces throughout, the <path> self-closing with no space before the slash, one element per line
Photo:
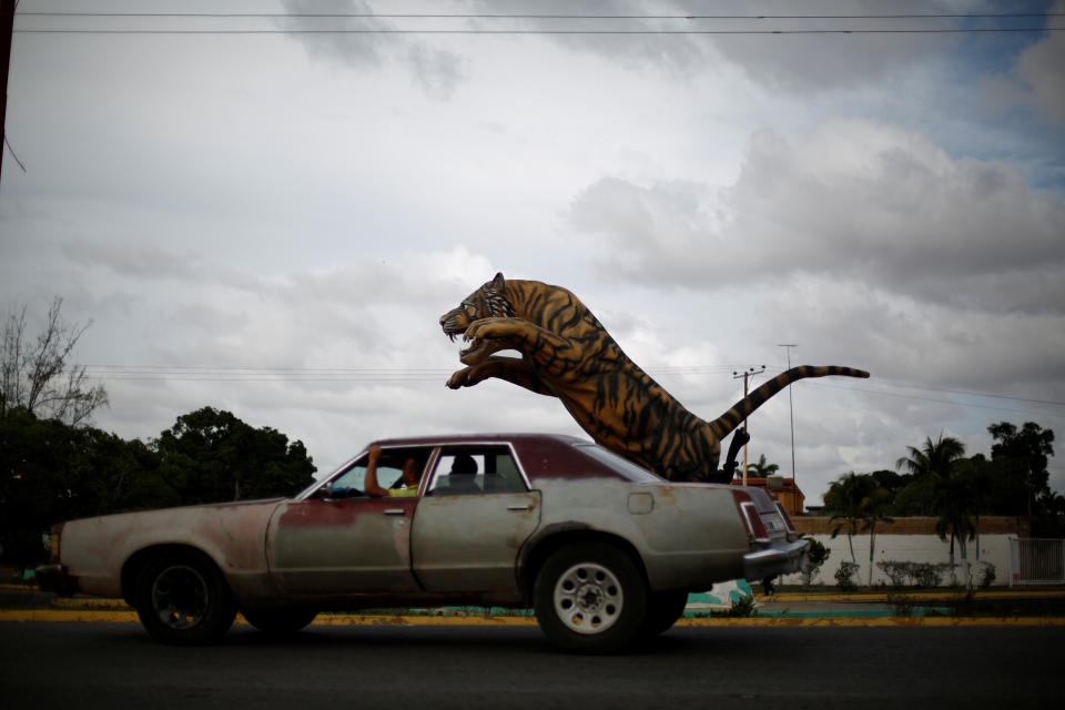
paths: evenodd
<path fill-rule="evenodd" d="M 532 608 L 574 651 L 612 651 L 682 616 L 689 591 L 795 571 L 807 541 L 757 488 L 672 484 L 561 435 L 377 442 L 291 499 L 73 520 L 53 529 L 41 587 L 121 597 L 150 635 L 221 637 L 237 610 L 291 632 L 320 610 Z M 465 466 L 460 465 L 464 464 Z"/>

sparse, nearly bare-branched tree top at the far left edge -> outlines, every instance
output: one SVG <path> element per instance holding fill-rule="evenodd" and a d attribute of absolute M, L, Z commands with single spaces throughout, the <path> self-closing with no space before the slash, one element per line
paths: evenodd
<path fill-rule="evenodd" d="M 52 302 L 37 339 L 27 336 L 24 306 L 8 316 L 0 344 L 0 417 L 22 408 L 40 418 L 80 424 L 108 404 L 103 385 L 91 384 L 84 367 L 70 364 L 91 323 L 67 324 L 62 305 L 62 298 Z"/>

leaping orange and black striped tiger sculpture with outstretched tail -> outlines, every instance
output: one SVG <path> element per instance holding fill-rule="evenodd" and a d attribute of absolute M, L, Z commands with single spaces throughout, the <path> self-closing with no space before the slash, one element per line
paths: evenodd
<path fill-rule="evenodd" d="M 706 422 L 629 359 L 566 288 L 506 281 L 499 273 L 440 316 L 440 327 L 453 342 L 462 336 L 468 343 L 459 354 L 466 367 L 447 382 L 452 389 L 497 377 L 558 397 L 597 444 L 677 481 L 731 480 L 731 470 L 718 469 L 721 439 L 790 383 L 829 375 L 869 377 L 850 367 L 792 367 Z M 521 357 L 495 354 L 506 349 Z M 732 466 L 746 438 L 742 429 L 733 437 Z"/>

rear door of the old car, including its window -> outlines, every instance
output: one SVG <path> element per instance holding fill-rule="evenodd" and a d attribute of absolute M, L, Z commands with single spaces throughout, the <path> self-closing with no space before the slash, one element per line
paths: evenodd
<path fill-rule="evenodd" d="M 473 457 L 471 479 L 457 462 Z M 440 449 L 418 503 L 410 549 L 414 572 L 428 591 L 513 591 L 523 542 L 540 519 L 539 493 L 529 490 L 507 445 Z"/>

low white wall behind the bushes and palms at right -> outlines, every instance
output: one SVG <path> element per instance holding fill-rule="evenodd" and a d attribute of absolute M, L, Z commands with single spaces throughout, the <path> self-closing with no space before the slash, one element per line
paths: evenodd
<path fill-rule="evenodd" d="M 851 551 L 848 547 L 846 536 L 842 532 L 832 538 L 829 535 L 808 535 L 808 538 L 815 539 L 824 545 L 831 554 L 820 571 L 813 578 L 815 585 L 835 585 L 835 571 L 840 568 L 840 562 L 851 561 Z M 994 586 L 1006 586 L 1010 582 L 1010 535 L 981 535 L 977 540 L 970 540 L 968 561 L 971 565 L 976 560 L 991 562 L 995 566 Z M 855 535 L 854 561 L 861 567 L 858 574 L 852 578 L 859 585 L 869 584 L 869 536 Z M 978 556 L 977 556 L 978 542 Z M 950 538 L 944 542 L 935 535 L 878 535 L 873 556 L 873 585 L 884 582 L 891 585 L 891 579 L 885 575 L 876 562 L 894 560 L 897 562 L 950 562 L 951 561 Z M 958 565 L 956 575 L 958 582 L 963 579 L 961 568 L 962 551 L 954 541 L 954 562 Z M 976 575 L 976 565 L 973 565 L 973 575 Z M 975 584 L 974 579 L 974 584 Z M 951 582 L 950 572 L 944 574 L 941 586 Z M 787 575 L 781 578 L 781 584 L 801 585 L 802 577 L 798 574 Z"/>

